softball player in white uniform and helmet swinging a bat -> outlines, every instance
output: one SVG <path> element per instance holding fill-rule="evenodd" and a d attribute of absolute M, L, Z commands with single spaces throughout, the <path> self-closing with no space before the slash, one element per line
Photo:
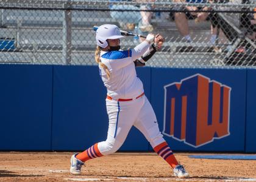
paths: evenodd
<path fill-rule="evenodd" d="M 101 25 L 96 31 L 95 60 L 99 64 L 102 81 L 107 87 L 108 133 L 107 140 L 96 143 L 82 153 L 71 157 L 70 172 L 81 174 L 85 161 L 116 152 L 126 140 L 132 126 L 147 138 L 155 152 L 172 168 L 179 178 L 188 173 L 174 157 L 160 132 L 154 110 L 144 95 L 143 83 L 137 77 L 135 66 L 144 66 L 165 41 L 162 35 L 149 34 L 134 49 L 121 50 L 123 36 L 116 25 Z"/>

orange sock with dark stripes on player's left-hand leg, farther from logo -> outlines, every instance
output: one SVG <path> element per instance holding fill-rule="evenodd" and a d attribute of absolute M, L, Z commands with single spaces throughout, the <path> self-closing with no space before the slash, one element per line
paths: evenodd
<path fill-rule="evenodd" d="M 76 158 L 80 161 L 88 161 L 92 158 L 102 157 L 103 155 L 99 152 L 98 143 L 94 144 L 87 150 L 76 155 Z"/>

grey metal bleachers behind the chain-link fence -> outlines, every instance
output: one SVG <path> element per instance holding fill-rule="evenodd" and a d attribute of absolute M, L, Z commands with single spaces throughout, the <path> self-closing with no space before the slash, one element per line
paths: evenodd
<path fill-rule="evenodd" d="M 60 2 L 59 2 L 60 3 Z M 97 2 L 96 2 L 97 3 Z M 94 3 L 95 5 L 95 3 Z M 88 7 L 88 6 L 85 6 Z M 95 64 L 93 25 L 116 24 L 109 11 L 69 10 L 71 12 L 71 64 Z M 236 45 L 230 42 L 222 31 L 218 42 L 209 43 L 210 22 L 189 21 L 193 42 L 186 42 L 169 17 L 162 12 L 161 18 L 153 16 L 153 33 L 161 33 L 166 42 L 149 62 L 150 66 L 223 66 L 225 59 L 232 55 Z M 0 62 L 33 62 L 34 64 L 66 64 L 63 58 L 66 20 L 63 9 L 48 10 L 1 10 L 0 37 L 15 39 L 15 49 L 2 49 Z M 120 26 L 120 25 L 119 25 Z M 121 47 L 135 47 L 133 37 L 122 41 Z M 233 47 L 232 47 L 233 46 Z M 187 49 L 193 47 L 193 49 Z M 231 47 L 231 49 L 230 49 Z M 163 64 L 164 62 L 164 64 Z"/>

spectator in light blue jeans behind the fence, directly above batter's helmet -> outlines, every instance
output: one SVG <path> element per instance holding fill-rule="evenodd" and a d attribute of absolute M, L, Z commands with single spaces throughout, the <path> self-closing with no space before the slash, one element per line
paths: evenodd
<path fill-rule="evenodd" d="M 123 1 L 123 0 L 110 0 L 110 2 Z M 138 1 L 143 2 L 144 0 Z M 152 1 L 152 0 L 151 0 Z M 127 1 L 126 1 L 127 2 Z M 139 12 L 138 10 L 150 10 L 150 5 L 127 5 L 127 4 L 111 4 L 112 10 L 123 10 L 123 11 L 112 11 L 110 15 L 113 19 L 118 21 L 122 29 L 133 30 L 137 25 L 140 33 L 152 32 L 154 30 L 151 24 L 152 12 Z M 135 10 L 135 11 L 125 11 Z"/>

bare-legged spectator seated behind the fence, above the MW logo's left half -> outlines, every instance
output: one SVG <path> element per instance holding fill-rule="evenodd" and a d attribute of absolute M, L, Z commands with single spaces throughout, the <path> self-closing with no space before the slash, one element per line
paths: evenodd
<path fill-rule="evenodd" d="M 193 2 L 193 3 L 205 3 L 205 0 L 174 0 L 175 2 Z M 196 6 L 186 6 L 183 8 L 174 8 L 174 10 L 188 10 L 188 11 L 196 11 L 196 10 L 210 10 L 208 7 L 196 7 Z M 188 27 L 188 19 L 195 19 L 195 22 L 202 22 L 207 20 L 208 13 L 207 12 L 176 12 L 171 13 L 171 18 L 174 19 L 176 23 L 176 27 L 179 30 L 180 34 L 184 36 L 184 38 L 188 42 L 192 42 L 190 36 L 190 30 Z M 212 44 L 215 43 L 217 37 L 217 27 L 211 25 L 211 33 L 212 36 L 210 38 L 210 42 Z"/>

